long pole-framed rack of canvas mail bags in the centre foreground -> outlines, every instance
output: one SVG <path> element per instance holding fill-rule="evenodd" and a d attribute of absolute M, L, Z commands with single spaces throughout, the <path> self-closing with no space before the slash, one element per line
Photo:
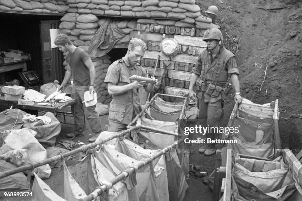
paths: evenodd
<path fill-rule="evenodd" d="M 160 95 L 182 98 L 183 101 L 166 102 L 159 98 Z M 189 151 L 178 149 L 182 135 L 176 132 L 175 118 L 184 118 L 186 105 L 187 98 L 156 94 L 131 123 L 136 125 L 129 125 L 127 130 L 102 132 L 95 143 L 0 172 L 0 180 L 60 160 L 64 198 L 33 173 L 32 201 L 90 201 L 96 198 L 109 201 L 182 201 L 188 188 Z M 158 106 L 160 113 L 171 118 L 165 117 L 168 121 L 145 118 L 143 115 L 148 116 L 146 111 L 153 106 Z M 172 115 L 169 114 L 171 108 Z M 150 114 L 156 118 L 153 112 Z M 127 139 L 129 136 L 133 141 Z M 81 160 L 65 159 L 78 152 L 87 154 Z M 24 185 L 29 184 L 24 182 Z"/>

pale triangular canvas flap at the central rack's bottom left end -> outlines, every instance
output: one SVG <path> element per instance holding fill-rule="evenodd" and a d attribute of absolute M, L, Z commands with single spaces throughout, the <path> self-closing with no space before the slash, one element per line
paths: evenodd
<path fill-rule="evenodd" d="M 32 187 L 32 201 L 66 201 L 56 194 L 36 173 Z"/>

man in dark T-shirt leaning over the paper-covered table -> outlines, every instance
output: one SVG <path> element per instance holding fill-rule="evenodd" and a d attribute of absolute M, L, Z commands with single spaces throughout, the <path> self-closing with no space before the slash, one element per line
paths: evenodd
<path fill-rule="evenodd" d="M 89 141 L 93 142 L 102 131 L 99 115 L 95 111 L 95 105 L 86 107 L 83 104 L 84 92 L 89 90 L 90 93 L 94 93 L 95 69 L 92 60 L 83 49 L 74 46 L 65 34 L 59 34 L 55 39 L 55 44 L 60 51 L 67 53 L 66 60 L 68 65 L 60 88 L 66 85 L 72 75 L 74 78 L 71 97 L 76 99 L 76 104 L 72 107 L 75 115 L 76 133 L 68 134 L 67 137 L 83 135 L 85 131 L 85 114 L 86 121 L 94 134 Z"/>

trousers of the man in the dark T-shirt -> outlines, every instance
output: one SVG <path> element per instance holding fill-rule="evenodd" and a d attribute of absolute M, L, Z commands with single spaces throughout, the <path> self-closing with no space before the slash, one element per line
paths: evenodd
<path fill-rule="evenodd" d="M 76 134 L 85 131 L 85 121 L 89 123 L 93 134 L 99 134 L 102 131 L 101 122 L 98 113 L 95 111 L 95 105 L 86 107 L 84 101 L 84 93 L 89 91 L 89 86 L 73 86 L 71 98 L 76 99 L 76 104 L 72 106 L 75 123 Z M 84 115 L 85 114 L 85 115 Z"/>

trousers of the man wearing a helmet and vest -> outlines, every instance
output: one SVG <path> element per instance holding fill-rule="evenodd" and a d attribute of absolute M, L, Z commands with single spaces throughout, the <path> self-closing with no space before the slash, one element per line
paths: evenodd
<path fill-rule="evenodd" d="M 206 122 L 206 126 L 219 127 L 221 125 L 221 120 L 224 116 L 224 111 L 222 109 L 222 100 L 215 103 L 205 103 L 203 92 L 197 94 L 198 98 L 198 123 L 201 125 L 202 122 Z M 219 138 L 218 133 L 207 133 L 206 138 Z"/>

